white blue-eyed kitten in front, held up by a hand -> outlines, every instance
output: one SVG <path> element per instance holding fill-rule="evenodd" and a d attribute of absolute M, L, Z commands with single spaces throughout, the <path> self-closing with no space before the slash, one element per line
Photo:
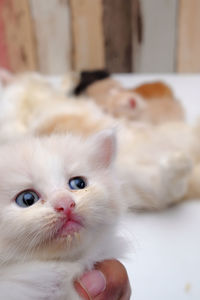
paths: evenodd
<path fill-rule="evenodd" d="M 114 154 L 111 131 L 1 146 L 1 299 L 80 299 L 74 278 L 118 255 Z"/>

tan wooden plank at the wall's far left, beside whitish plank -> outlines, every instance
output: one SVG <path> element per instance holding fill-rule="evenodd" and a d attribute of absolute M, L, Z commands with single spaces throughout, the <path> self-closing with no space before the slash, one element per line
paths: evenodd
<path fill-rule="evenodd" d="M 1 49 L 5 65 L 12 71 L 35 70 L 34 34 L 27 0 L 1 1 L 1 29 L 4 31 Z"/>

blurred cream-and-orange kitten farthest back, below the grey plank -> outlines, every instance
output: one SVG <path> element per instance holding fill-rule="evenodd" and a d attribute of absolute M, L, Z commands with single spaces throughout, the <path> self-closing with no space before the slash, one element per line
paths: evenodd
<path fill-rule="evenodd" d="M 117 81 L 105 79 L 90 85 L 86 95 L 117 118 L 150 124 L 184 120 L 181 103 L 162 82 L 145 83 L 127 90 Z"/>

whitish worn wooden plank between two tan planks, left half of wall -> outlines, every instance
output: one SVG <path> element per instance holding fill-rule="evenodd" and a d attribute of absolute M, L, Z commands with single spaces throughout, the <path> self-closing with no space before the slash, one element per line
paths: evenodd
<path fill-rule="evenodd" d="M 37 40 L 39 70 L 61 74 L 71 69 L 71 31 L 67 0 L 29 0 Z"/>

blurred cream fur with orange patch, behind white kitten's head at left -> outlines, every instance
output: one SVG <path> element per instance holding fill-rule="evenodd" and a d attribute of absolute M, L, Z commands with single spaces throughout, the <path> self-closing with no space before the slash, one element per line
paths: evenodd
<path fill-rule="evenodd" d="M 3 90 L 0 102 L 0 140 L 7 141 L 36 132 L 88 134 L 113 124 L 88 99 L 66 97 L 45 77 L 29 73 L 14 77 Z M 103 122 L 102 122 L 103 119 Z"/>

